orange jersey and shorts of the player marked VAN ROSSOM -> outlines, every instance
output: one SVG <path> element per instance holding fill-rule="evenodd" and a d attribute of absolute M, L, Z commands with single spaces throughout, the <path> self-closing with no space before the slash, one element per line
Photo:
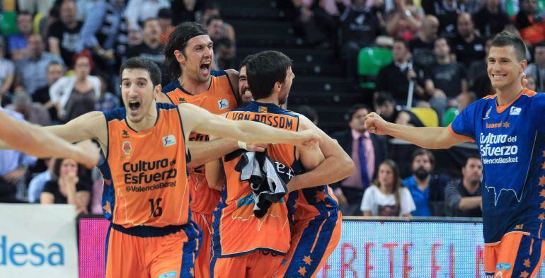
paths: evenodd
<path fill-rule="evenodd" d="M 292 131 L 299 127 L 297 115 L 268 103 L 251 102 L 227 113 L 226 117 Z M 273 144 L 267 148 L 267 154 L 289 171 L 297 163 L 293 145 Z M 225 161 L 222 158 L 226 185 L 214 211 L 212 274 L 214 277 L 273 277 L 289 250 L 287 196 L 272 203 L 265 216 L 257 218 L 253 213 L 255 202 L 250 184 L 248 180 L 241 181 L 241 173 L 235 170 L 240 159 Z"/>

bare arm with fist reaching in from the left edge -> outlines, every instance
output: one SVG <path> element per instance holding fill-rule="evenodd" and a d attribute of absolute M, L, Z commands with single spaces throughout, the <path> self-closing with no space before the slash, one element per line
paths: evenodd
<path fill-rule="evenodd" d="M 44 129 L 13 119 L 0 111 L 2 149 L 9 147 L 31 156 L 71 158 L 87 167 L 95 166 L 100 158 L 91 141 L 72 145 Z"/>

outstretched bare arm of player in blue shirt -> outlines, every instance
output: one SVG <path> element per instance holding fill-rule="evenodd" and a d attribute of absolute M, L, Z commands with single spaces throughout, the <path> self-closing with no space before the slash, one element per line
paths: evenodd
<path fill-rule="evenodd" d="M 386 122 L 375 112 L 365 116 L 365 127 L 374 134 L 390 135 L 425 149 L 448 149 L 468 141 L 463 137 L 452 135 L 447 127 L 408 127 L 393 124 Z"/>

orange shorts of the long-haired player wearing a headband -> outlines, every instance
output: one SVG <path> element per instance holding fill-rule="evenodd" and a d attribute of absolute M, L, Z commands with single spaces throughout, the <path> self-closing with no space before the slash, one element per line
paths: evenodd
<path fill-rule="evenodd" d="M 212 214 L 191 211 L 191 219 L 202 231 L 202 244 L 195 260 L 195 277 L 210 278 L 210 252 L 212 250 Z"/>

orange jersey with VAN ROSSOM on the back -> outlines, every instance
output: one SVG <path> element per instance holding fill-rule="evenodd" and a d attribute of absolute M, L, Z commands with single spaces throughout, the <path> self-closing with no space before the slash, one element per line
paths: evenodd
<path fill-rule="evenodd" d="M 277 105 L 252 102 L 226 116 L 230 120 L 252 120 L 272 127 L 297 131 L 299 117 L 289 114 Z M 285 171 L 292 175 L 292 165 L 296 163 L 295 146 L 274 144 L 267 153 L 273 161 L 286 166 Z M 243 255 L 255 250 L 270 250 L 285 254 L 289 249 L 289 221 L 286 200 L 273 203 L 267 214 L 257 218 L 253 214 L 254 200 L 248 181 L 241 181 L 236 163 L 241 158 L 224 161 L 223 168 L 226 187 L 222 190 L 222 200 L 214 211 L 213 248 L 214 257 Z M 282 171 L 282 168 L 277 169 Z"/>

